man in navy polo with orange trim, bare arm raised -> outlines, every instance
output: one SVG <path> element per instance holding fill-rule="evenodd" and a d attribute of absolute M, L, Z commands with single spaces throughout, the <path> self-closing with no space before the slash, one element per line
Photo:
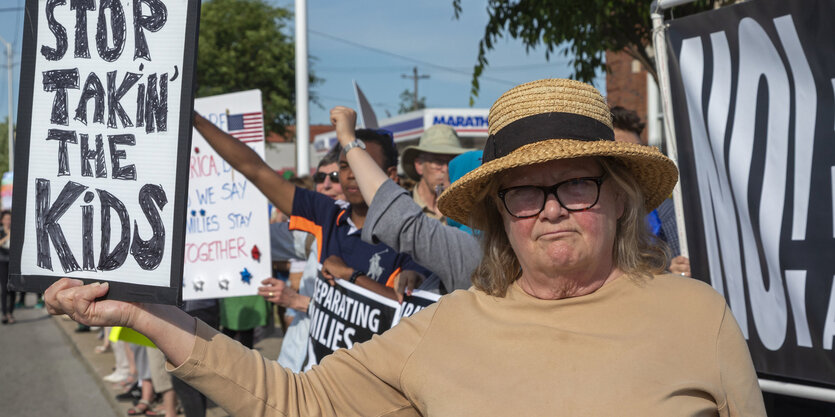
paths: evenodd
<path fill-rule="evenodd" d="M 272 170 L 246 144 L 223 132 L 195 113 L 194 127 L 238 172 L 246 176 L 275 206 L 290 216 L 290 228 L 316 236 L 319 262 L 329 278 L 355 282 L 395 299 L 395 277 L 402 271 L 429 272 L 408 255 L 385 244 L 362 241 L 368 205 L 360 194 L 345 155 L 339 160 L 339 182 L 347 202 L 334 201 L 313 191 L 298 188 Z M 397 176 L 397 148 L 391 133 L 359 129 L 355 146 L 364 147 L 392 179 Z M 350 151 L 350 148 L 347 149 Z"/>

